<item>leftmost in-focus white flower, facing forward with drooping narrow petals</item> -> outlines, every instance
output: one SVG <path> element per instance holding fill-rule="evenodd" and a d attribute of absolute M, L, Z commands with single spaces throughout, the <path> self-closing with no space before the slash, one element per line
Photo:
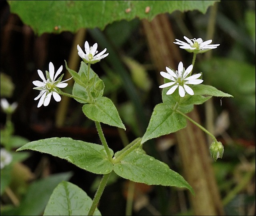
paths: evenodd
<path fill-rule="evenodd" d="M 44 77 L 42 70 L 37 70 L 38 75 L 43 80 L 43 82 L 39 80 L 32 82 L 35 86 L 37 86 L 37 87 L 34 87 L 33 89 L 40 90 L 39 95 L 36 98 L 34 98 L 34 100 L 38 100 L 40 98 L 37 105 L 38 108 L 43 104 L 44 106 L 48 106 L 52 96 L 54 100 L 56 100 L 57 102 L 60 102 L 61 97 L 58 94 L 58 88 L 65 88 L 66 86 L 68 86 L 68 84 L 65 82 L 72 78 L 70 77 L 69 79 L 60 82 L 64 75 L 62 74 L 62 76 L 60 76 L 60 78 L 56 80 L 57 76 L 60 74 L 60 72 L 62 72 L 62 69 L 63 69 L 63 66 L 60 66 L 60 68 L 57 70 L 54 76 L 54 65 L 52 64 L 52 62 L 50 62 L 49 72 L 46 71 L 46 78 Z"/>

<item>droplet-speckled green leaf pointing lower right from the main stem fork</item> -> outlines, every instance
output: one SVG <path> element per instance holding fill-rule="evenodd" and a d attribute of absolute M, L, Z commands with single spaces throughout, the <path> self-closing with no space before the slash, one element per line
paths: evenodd
<path fill-rule="evenodd" d="M 114 164 L 114 172 L 133 182 L 184 187 L 194 193 L 192 187 L 180 174 L 171 170 L 164 162 L 143 154 L 140 150 L 131 152 L 122 161 Z"/>

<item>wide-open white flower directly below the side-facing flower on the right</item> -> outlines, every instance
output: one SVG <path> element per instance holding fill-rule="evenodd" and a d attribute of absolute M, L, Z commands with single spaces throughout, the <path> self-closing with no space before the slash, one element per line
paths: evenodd
<path fill-rule="evenodd" d="M 174 70 L 166 67 L 167 73 L 164 71 L 161 71 L 160 74 L 162 77 L 168 80 L 171 80 L 171 82 L 162 84 L 159 86 L 159 88 L 166 88 L 166 87 L 172 86 L 172 88 L 170 88 L 166 92 L 166 94 L 172 94 L 176 90 L 176 88 L 179 88 L 179 94 L 181 97 L 184 97 L 186 92 L 190 95 L 194 95 L 194 91 L 187 84 L 196 85 L 196 84 L 202 83 L 204 80 L 198 79 L 201 76 L 201 74 L 194 74 L 192 76 L 188 76 L 188 74 L 190 74 L 192 69 L 193 69 L 193 65 L 191 64 L 185 70 L 182 62 L 178 64 L 178 71 L 176 70 L 175 72 Z"/>

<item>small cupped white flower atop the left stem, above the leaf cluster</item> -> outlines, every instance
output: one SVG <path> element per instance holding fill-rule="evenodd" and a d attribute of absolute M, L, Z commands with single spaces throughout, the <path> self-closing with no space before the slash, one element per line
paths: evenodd
<path fill-rule="evenodd" d="M 88 42 L 86 41 L 84 43 L 84 50 L 86 52 L 85 54 L 82 48 L 77 44 L 78 55 L 84 60 L 86 64 L 88 63 L 94 64 L 102 60 L 102 58 L 105 58 L 106 56 L 108 56 L 108 53 L 104 54 L 107 51 L 107 48 L 105 48 L 99 54 L 97 54 L 98 53 L 97 48 L 98 48 L 97 43 L 95 43 L 93 46 L 90 47 Z"/>

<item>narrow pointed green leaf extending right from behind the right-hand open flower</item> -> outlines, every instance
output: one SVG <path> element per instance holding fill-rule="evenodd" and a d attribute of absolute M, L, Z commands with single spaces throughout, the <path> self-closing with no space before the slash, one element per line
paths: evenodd
<path fill-rule="evenodd" d="M 215 97 L 233 97 L 231 94 L 224 93 L 213 86 L 195 85 L 193 86 L 195 95 L 210 95 Z"/>

